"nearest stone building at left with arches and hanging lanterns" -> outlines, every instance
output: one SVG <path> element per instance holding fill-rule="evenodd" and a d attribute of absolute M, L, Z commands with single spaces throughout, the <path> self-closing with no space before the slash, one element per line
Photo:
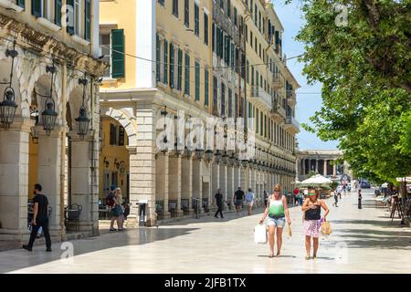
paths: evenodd
<path fill-rule="evenodd" d="M 62 7 L 69 9 L 68 15 Z M 6 88 L 12 72 L 16 102 L 14 120 L 9 125 L 4 122 L 0 129 L 0 241 L 26 242 L 34 183 L 42 184 L 42 193 L 47 195 L 54 238 L 65 238 L 67 203 L 81 206 L 73 226 L 76 230 L 98 233 L 100 100 L 96 78 L 106 68 L 98 60 L 98 24 L 96 0 L 0 1 L 0 90 L 2 95 L 10 90 Z M 79 79 L 87 79 L 87 85 Z M 51 99 L 47 98 L 50 91 Z M 79 136 L 75 120 L 83 94 L 90 119 L 84 137 Z M 43 114 L 48 104 L 57 116 Z M 46 117 L 56 119 L 54 126 Z M 5 121 L 4 114 L 2 118 Z M 46 130 L 47 125 L 53 127 Z"/>

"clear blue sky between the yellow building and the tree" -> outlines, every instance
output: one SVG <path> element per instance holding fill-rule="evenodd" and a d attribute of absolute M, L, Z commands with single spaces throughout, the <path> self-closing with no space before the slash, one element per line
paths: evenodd
<path fill-rule="evenodd" d="M 279 16 L 282 26 L 284 26 L 284 35 L 282 36 L 283 54 L 286 54 L 287 57 L 302 54 L 304 46 L 295 40 L 300 27 L 304 24 L 299 1 L 294 0 L 290 5 L 285 5 L 284 0 L 272 0 L 271 2 L 274 4 L 274 10 Z M 321 84 L 308 86 L 306 78 L 302 75 L 303 64 L 296 59 L 289 60 L 287 66 L 300 83 L 300 89 L 297 90 L 296 118 L 300 123 L 310 124 L 310 117 L 314 115 L 316 110 L 321 110 Z M 310 92 L 312 94 L 306 94 Z M 303 130 L 301 127 L 297 137 L 301 150 L 336 149 L 338 145 L 337 141 L 321 141 L 315 134 Z"/>

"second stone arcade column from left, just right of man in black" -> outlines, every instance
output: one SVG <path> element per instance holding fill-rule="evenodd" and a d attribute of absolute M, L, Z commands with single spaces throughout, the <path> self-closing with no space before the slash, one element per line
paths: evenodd
<path fill-rule="evenodd" d="M 49 136 L 44 130 L 38 133 L 38 161 L 37 161 L 37 182 L 43 187 L 43 193 L 47 196 L 48 205 L 52 208 L 48 217 L 48 224 L 51 236 L 61 236 L 60 226 L 60 163 L 61 163 L 61 128 L 56 127 Z M 87 153 L 86 153 L 87 155 Z M 73 177 L 71 174 L 71 177 Z M 89 177 L 82 178 L 88 180 Z M 88 181 L 89 183 L 89 181 Z M 63 195 L 63 193 L 61 193 Z M 72 202 L 75 203 L 75 202 Z M 84 202 L 87 204 L 87 202 Z M 79 203 L 83 206 L 84 203 Z M 81 211 L 81 214 L 83 211 Z M 61 214 L 63 215 L 63 214 Z M 84 215 L 82 215 L 84 220 Z"/>

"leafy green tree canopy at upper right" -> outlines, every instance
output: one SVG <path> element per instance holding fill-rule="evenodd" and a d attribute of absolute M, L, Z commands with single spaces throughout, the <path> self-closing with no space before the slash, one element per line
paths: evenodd
<path fill-rule="evenodd" d="M 301 60 L 309 83 L 322 83 L 323 100 L 303 127 L 339 140 L 355 175 L 376 183 L 408 175 L 411 0 L 302 2 Z"/>

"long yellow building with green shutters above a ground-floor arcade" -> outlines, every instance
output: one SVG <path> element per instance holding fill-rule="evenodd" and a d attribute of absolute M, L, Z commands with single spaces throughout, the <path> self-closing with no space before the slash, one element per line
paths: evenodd
<path fill-rule="evenodd" d="M 111 124 L 102 130 L 109 134 L 101 137 L 100 193 L 121 185 L 132 204 L 130 218 L 138 216 L 136 203 L 147 202 L 147 224 L 153 225 L 193 214 L 196 202 L 204 212 L 218 188 L 227 201 L 238 186 L 251 188 L 258 204 L 273 183 L 290 192 L 299 85 L 282 55 L 282 33 L 265 1 L 100 1 L 100 52 L 111 64 L 100 87 L 100 113 Z M 256 156 L 160 151 L 162 113 L 174 119 L 179 110 L 184 119 L 249 118 L 246 136 L 255 136 Z M 119 145 L 121 132 L 128 139 Z M 236 136 L 243 134 L 236 129 Z M 127 180 L 119 183 L 112 162 L 124 154 Z"/>

